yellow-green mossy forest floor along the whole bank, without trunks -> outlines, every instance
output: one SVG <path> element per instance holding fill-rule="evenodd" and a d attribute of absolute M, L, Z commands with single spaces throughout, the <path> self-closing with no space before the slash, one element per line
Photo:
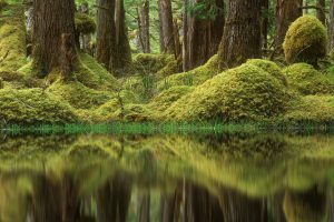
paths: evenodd
<path fill-rule="evenodd" d="M 33 75 L 22 9 L 0 11 L 0 125 L 126 122 L 262 122 L 295 128 L 334 123 L 328 65 L 254 59 L 219 72 L 218 58 L 178 73 L 170 54 L 135 54 L 130 73 L 115 78 L 79 52 L 75 80 L 59 70 Z"/>

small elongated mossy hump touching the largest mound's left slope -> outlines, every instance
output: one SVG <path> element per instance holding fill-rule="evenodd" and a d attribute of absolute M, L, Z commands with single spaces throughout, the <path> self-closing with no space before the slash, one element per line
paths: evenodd
<path fill-rule="evenodd" d="M 181 87 L 173 87 L 168 90 L 163 91 L 160 94 L 155 97 L 149 103 L 148 108 L 154 111 L 165 111 L 169 108 L 175 101 L 193 92 L 193 87 L 181 85 Z"/>

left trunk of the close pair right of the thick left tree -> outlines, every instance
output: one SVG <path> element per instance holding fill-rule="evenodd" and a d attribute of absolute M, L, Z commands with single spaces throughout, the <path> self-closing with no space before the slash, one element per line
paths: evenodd
<path fill-rule="evenodd" d="M 115 0 L 97 0 L 96 59 L 109 69 L 111 54 L 116 54 Z"/>

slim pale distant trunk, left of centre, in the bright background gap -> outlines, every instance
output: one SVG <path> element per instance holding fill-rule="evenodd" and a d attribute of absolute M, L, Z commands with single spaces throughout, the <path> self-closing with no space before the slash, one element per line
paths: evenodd
<path fill-rule="evenodd" d="M 150 52 L 149 44 L 149 1 L 144 0 L 139 7 L 139 34 L 140 44 L 144 53 Z"/>

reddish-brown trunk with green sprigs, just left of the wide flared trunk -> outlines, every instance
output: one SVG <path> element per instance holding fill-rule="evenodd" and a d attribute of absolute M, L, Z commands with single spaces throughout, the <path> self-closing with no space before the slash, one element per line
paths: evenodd
<path fill-rule="evenodd" d="M 185 71 L 204 64 L 217 53 L 224 30 L 224 1 L 193 0 L 185 6 Z"/>

